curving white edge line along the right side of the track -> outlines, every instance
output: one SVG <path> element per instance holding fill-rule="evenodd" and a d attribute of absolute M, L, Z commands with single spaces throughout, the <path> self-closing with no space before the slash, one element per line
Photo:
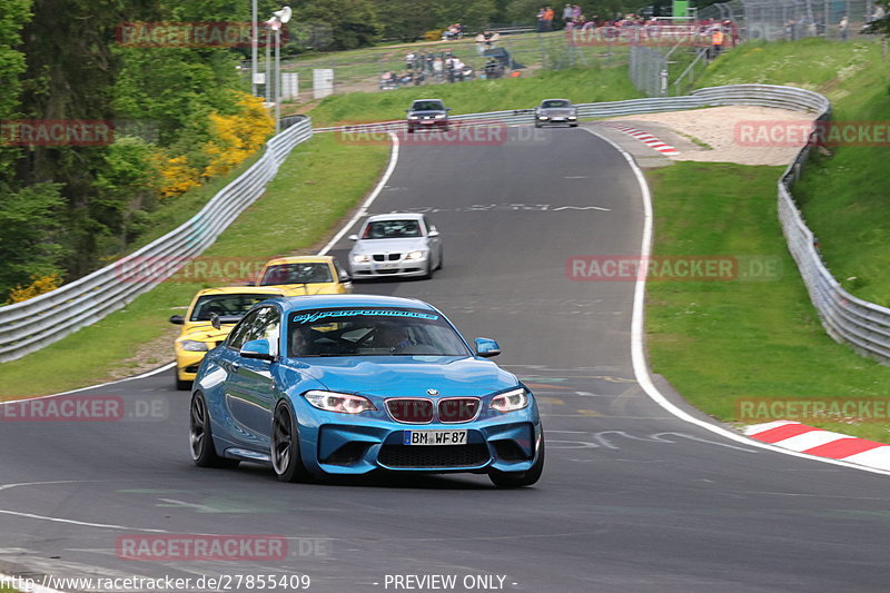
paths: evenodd
<path fill-rule="evenodd" d="M 649 189 L 649 184 L 646 182 L 646 178 L 643 175 L 642 169 L 633 159 L 631 154 L 621 148 L 619 145 L 616 145 L 609 138 L 596 134 L 594 130 L 587 127 L 583 127 L 582 129 L 587 130 L 593 136 L 596 136 L 603 141 L 610 144 L 615 150 L 619 151 L 619 154 L 621 154 L 622 157 L 624 157 L 624 159 L 627 161 L 627 165 L 630 165 L 631 169 L 633 170 L 634 176 L 636 177 L 636 181 L 640 185 L 640 191 L 642 192 L 642 198 L 643 198 L 643 239 L 640 246 L 640 255 L 642 257 L 649 257 L 649 255 L 652 253 L 652 192 Z M 633 296 L 633 317 L 631 320 L 631 357 L 633 360 L 633 372 L 634 375 L 636 376 L 636 382 L 640 384 L 640 387 L 643 388 L 646 395 L 650 398 L 652 398 L 653 402 L 655 402 L 666 412 L 673 414 L 683 422 L 694 424 L 706 431 L 710 431 L 725 438 L 729 438 L 730 441 L 735 441 L 736 443 L 744 443 L 745 445 L 751 445 L 767 451 L 772 451 L 774 453 L 781 453 L 783 455 L 791 455 L 792 457 L 801 457 L 804 459 L 828 463 L 831 465 L 840 465 L 842 467 L 850 467 L 852 470 L 859 470 L 872 474 L 890 475 L 890 472 L 886 470 L 878 470 L 874 467 L 868 467 L 866 465 L 843 462 L 840 459 L 829 459 L 827 457 L 808 455 L 805 453 L 799 453 L 797 451 L 790 451 L 773 445 L 769 445 L 767 443 L 749 438 L 748 436 L 744 436 L 740 433 L 735 433 L 722 426 L 718 426 L 716 424 L 711 424 L 710 422 L 699 419 L 694 416 L 691 416 L 686 412 L 680 409 L 674 404 L 672 404 L 652 382 L 652 375 L 649 372 L 649 364 L 646 363 L 646 355 L 644 348 L 644 334 L 643 334 L 644 329 L 643 322 L 645 319 L 645 289 L 646 289 L 645 277 L 636 280 L 636 284 L 634 286 L 634 296 Z"/>

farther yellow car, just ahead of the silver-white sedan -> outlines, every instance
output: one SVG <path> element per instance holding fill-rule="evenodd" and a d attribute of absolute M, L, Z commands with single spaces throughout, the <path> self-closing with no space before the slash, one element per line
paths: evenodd
<path fill-rule="evenodd" d="M 284 286 L 291 296 L 343 295 L 353 291 L 349 275 L 332 256 L 291 256 L 269 259 L 257 286 Z"/>

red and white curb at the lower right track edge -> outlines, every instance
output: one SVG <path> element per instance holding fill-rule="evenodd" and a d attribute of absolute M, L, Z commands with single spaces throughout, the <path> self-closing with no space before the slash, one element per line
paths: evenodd
<path fill-rule="evenodd" d="M 813 428 L 799 422 L 777 421 L 745 426 L 744 434 L 778 447 L 840 459 L 877 470 L 890 470 L 890 445 Z"/>

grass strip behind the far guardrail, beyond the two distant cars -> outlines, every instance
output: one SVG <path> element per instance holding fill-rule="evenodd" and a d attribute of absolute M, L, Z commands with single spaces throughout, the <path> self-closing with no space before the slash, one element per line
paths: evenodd
<path fill-rule="evenodd" d="M 620 101 L 642 95 L 625 67 L 548 70 L 528 78 L 473 80 L 436 87 L 412 87 L 386 92 L 348 92 L 326 98 L 308 112 L 315 126 L 402 119 L 414 99 L 435 97 L 452 115 L 531 109 L 544 99 L 574 102 Z"/>

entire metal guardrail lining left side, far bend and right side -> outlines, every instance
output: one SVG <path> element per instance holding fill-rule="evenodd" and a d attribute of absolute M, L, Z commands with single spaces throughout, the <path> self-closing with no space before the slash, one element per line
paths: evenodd
<path fill-rule="evenodd" d="M 577 107 L 580 118 L 599 119 L 722 105 L 810 111 L 818 113 L 821 121 L 831 118 L 831 103 L 825 97 L 809 90 L 770 85 L 711 87 L 683 97 L 582 103 Z M 528 125 L 533 121 L 531 109 L 468 113 L 451 119 L 458 126 Z M 308 139 L 313 132 L 383 132 L 400 131 L 405 128 L 404 121 L 315 130 L 309 125 L 308 119 L 296 121 L 296 125 L 273 138 L 260 160 L 178 229 L 117 264 L 75 283 L 24 303 L 0 307 L 0 362 L 19 358 L 101 319 L 174 274 L 181 263 L 200 254 L 241 210 L 261 195 L 266 182 L 275 176 L 290 149 Z M 803 147 L 779 180 L 779 218 L 789 250 L 828 333 L 839 342 L 851 344 L 859 352 L 890 363 L 890 309 L 854 297 L 831 276 L 819 256 L 812 231 L 803 221 L 789 190 L 790 184 L 800 177 L 809 154 L 810 147 Z M 165 257 L 172 261 L 169 266 L 160 266 L 155 270 L 151 283 L 121 281 L 119 276 L 127 263 L 138 264 L 139 258 L 162 260 Z M 177 263 L 176 258 L 181 259 Z"/>

